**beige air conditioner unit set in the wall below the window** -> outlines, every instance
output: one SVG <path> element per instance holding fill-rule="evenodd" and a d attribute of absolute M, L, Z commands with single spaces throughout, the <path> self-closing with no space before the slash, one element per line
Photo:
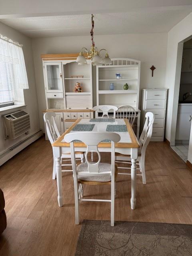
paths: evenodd
<path fill-rule="evenodd" d="M 6 130 L 6 139 L 14 139 L 28 132 L 30 129 L 29 114 L 23 110 L 6 114 L 3 116 Z"/>

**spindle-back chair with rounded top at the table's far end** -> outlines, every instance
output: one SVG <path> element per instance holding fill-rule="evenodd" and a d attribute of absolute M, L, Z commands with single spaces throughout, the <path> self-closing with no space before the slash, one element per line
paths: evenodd
<path fill-rule="evenodd" d="M 127 118 L 133 127 L 136 118 L 136 111 L 129 105 L 120 106 L 118 107 L 117 118 Z"/>

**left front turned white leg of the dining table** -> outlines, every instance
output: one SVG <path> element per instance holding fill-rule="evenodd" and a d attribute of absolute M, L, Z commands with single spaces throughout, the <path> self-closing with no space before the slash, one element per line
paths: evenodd
<path fill-rule="evenodd" d="M 61 152 L 60 147 L 54 148 L 54 157 L 56 162 L 56 176 L 57 176 L 57 190 L 58 190 L 58 204 L 63 206 L 62 197 L 62 172 L 61 172 Z"/>

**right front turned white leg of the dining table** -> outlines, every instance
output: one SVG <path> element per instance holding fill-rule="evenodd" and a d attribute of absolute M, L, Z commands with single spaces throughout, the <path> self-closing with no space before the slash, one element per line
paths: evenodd
<path fill-rule="evenodd" d="M 136 161 L 138 156 L 138 149 L 131 149 L 131 209 L 134 210 L 136 206 Z"/>

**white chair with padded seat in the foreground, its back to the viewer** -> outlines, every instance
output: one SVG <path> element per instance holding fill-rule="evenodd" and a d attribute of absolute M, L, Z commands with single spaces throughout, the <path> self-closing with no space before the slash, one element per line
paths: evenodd
<path fill-rule="evenodd" d="M 74 140 L 81 140 L 87 145 L 85 162 L 76 165 L 74 153 Z M 111 164 L 100 162 L 101 156 L 98 151 L 98 144 L 102 140 L 111 140 Z M 75 194 L 75 223 L 79 224 L 79 201 L 98 201 L 111 203 L 111 226 L 114 226 L 114 199 L 115 199 L 115 176 L 117 166 L 115 166 L 115 142 L 120 140 L 120 136 L 114 132 L 72 132 L 64 136 L 66 142 L 70 142 L 71 160 L 74 178 Z M 98 162 L 88 161 L 88 152 L 95 151 L 98 154 Z M 115 175 L 116 173 L 116 175 Z M 82 198 L 82 184 L 87 185 L 111 185 L 111 199 L 87 199 Z"/>

